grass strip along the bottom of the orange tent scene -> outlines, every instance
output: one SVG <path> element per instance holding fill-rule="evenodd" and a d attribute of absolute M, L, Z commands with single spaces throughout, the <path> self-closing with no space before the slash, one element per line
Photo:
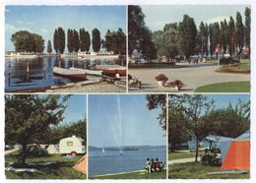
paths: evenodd
<path fill-rule="evenodd" d="M 171 164 L 168 166 L 168 178 L 170 179 L 248 179 L 245 174 L 207 175 L 208 172 L 221 171 L 220 166 L 207 166 L 199 162 L 187 162 Z"/>

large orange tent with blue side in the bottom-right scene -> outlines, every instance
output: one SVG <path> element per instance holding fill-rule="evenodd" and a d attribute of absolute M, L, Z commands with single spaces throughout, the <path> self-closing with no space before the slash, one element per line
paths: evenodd
<path fill-rule="evenodd" d="M 250 131 L 220 144 L 221 169 L 250 169 Z"/>

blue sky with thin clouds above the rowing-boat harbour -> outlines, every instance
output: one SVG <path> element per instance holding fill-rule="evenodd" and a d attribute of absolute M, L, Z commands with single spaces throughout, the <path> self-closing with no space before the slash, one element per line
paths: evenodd
<path fill-rule="evenodd" d="M 97 28 L 101 38 L 107 30 L 126 31 L 125 6 L 6 6 L 5 7 L 5 49 L 14 50 L 10 40 L 18 30 L 29 30 L 53 39 L 54 30 L 85 28 L 90 34 Z M 92 35 L 91 35 L 92 38 Z M 46 50 L 46 49 L 45 49 Z M 45 51 L 44 50 L 44 51 Z"/>

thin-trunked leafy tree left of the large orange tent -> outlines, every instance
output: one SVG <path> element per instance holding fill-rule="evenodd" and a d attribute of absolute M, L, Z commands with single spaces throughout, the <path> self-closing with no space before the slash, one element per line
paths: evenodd
<path fill-rule="evenodd" d="M 195 161 L 197 161 L 199 142 L 208 135 L 203 117 L 213 110 L 214 100 L 209 100 L 206 96 L 200 94 L 170 94 L 169 107 L 178 108 L 179 112 L 182 112 L 187 121 L 188 130 L 196 138 Z"/>

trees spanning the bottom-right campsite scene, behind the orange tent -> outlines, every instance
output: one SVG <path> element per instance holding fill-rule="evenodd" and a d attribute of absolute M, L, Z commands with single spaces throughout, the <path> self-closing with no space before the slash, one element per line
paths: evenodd
<path fill-rule="evenodd" d="M 250 101 L 238 99 L 235 104 L 216 107 L 215 101 L 204 95 L 170 94 L 168 106 L 170 151 L 194 137 L 196 161 L 199 143 L 208 135 L 235 138 L 250 129 Z"/>

